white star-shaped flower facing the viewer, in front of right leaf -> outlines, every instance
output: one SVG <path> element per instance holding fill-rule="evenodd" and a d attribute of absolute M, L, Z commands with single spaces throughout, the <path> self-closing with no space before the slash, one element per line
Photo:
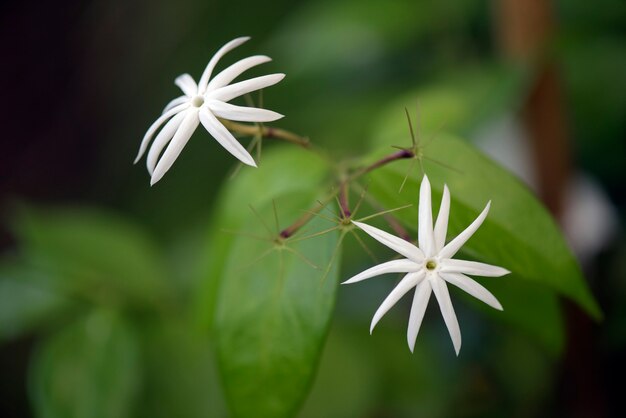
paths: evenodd
<path fill-rule="evenodd" d="M 357 274 L 343 284 L 360 282 L 361 280 L 386 273 L 407 273 L 374 314 L 370 326 L 370 333 L 374 330 L 380 318 L 382 318 L 402 296 L 412 288 L 415 288 L 407 331 L 407 341 L 411 352 L 413 352 L 415 340 L 420 325 L 422 324 L 424 311 L 426 310 L 426 305 L 428 304 L 432 290 L 439 302 L 441 314 L 443 315 L 443 319 L 448 327 L 448 332 L 452 338 L 454 350 L 458 355 L 461 349 L 461 331 L 459 330 L 459 324 L 452 307 L 452 301 L 450 300 L 446 282 L 459 287 L 475 298 L 485 302 L 487 305 L 502 310 L 500 302 L 498 302 L 487 289 L 467 277 L 466 274 L 499 277 L 510 272 L 501 267 L 491 266 L 489 264 L 455 260 L 452 258 L 483 223 L 489 212 L 491 202 L 487 203 L 482 213 L 465 231 L 445 245 L 446 231 L 448 229 L 448 215 L 450 213 L 450 192 L 448 191 L 448 187 L 444 186 L 441 208 L 439 209 L 439 216 L 435 222 L 434 229 L 430 199 L 430 183 L 428 177 L 424 176 L 420 186 L 418 211 L 419 248 L 401 238 L 381 231 L 378 228 L 361 222 L 353 222 L 372 238 L 406 258 L 388 261 L 374 266 Z"/>

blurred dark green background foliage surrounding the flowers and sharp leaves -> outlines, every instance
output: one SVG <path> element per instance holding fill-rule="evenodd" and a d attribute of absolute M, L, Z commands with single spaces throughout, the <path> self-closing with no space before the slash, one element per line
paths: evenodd
<path fill-rule="evenodd" d="M 554 352 L 459 303 L 464 348 L 457 359 L 431 306 L 411 355 L 406 312 L 391 311 L 369 336 L 380 292 L 342 288 L 299 416 L 619 416 L 626 4 L 548 3 L 552 28 L 524 56 L 507 33 L 526 21 L 530 30 L 521 33 L 541 34 L 542 24 L 532 13 L 511 19 L 503 10 L 515 3 L 524 2 L 5 2 L 0 414 L 228 416 L 194 296 L 206 279 L 209 219 L 233 162 L 202 130 L 152 188 L 143 163 L 132 160 L 149 124 L 178 95 L 174 78 L 198 77 L 219 46 L 250 35 L 222 65 L 252 54 L 273 58 L 251 73 L 287 74 L 264 94 L 269 108 L 286 115 L 277 126 L 357 157 L 389 143 L 394 127 L 397 145 L 408 143 L 403 108 L 414 111 L 419 101 L 425 137 L 466 137 L 540 194 L 533 168 L 542 163 L 533 157 L 554 149 L 535 142 L 528 150 L 528 114 L 549 68 L 559 107 L 541 114 L 561 122 L 566 143 L 557 151 L 568 168 L 548 172 L 547 181 L 565 177 L 561 186 L 569 187 L 584 178 L 592 190 L 588 200 L 569 203 L 582 218 L 558 213 L 572 239 L 583 236 L 572 246 L 603 322 L 564 302 L 567 342 Z M 341 277 L 369 263 L 352 244 Z"/>

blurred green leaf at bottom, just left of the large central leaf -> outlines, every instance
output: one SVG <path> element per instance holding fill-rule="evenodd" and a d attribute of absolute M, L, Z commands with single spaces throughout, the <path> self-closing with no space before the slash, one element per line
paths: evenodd
<path fill-rule="evenodd" d="M 208 338 L 167 318 L 142 324 L 144 370 L 137 416 L 205 418 L 226 415 Z"/>

